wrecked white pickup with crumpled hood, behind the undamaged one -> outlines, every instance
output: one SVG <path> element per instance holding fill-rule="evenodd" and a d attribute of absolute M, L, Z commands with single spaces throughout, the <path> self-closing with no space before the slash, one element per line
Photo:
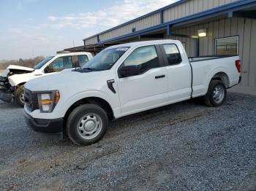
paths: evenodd
<path fill-rule="evenodd" d="M 34 69 L 10 65 L 0 74 L 0 100 L 10 102 L 14 99 L 15 104 L 23 107 L 23 87 L 30 79 L 75 67 L 77 63 L 83 66 L 91 58 L 89 52 L 69 52 L 45 58 L 34 66 Z"/>

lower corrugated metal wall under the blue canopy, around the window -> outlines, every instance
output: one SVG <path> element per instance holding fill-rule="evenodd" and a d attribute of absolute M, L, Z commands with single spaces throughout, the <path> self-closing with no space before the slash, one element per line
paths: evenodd
<path fill-rule="evenodd" d="M 256 87 L 256 20 L 248 18 L 229 18 L 214 22 L 174 30 L 175 34 L 197 35 L 197 30 L 207 28 L 207 37 L 200 38 L 200 55 L 214 55 L 214 39 L 227 36 L 239 36 L 239 55 L 242 60 L 241 85 Z M 181 37 L 189 56 L 195 56 L 195 40 Z"/>

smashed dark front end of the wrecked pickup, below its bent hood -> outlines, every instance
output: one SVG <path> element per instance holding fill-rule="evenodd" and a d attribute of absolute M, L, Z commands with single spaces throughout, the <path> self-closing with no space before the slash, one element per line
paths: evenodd
<path fill-rule="evenodd" d="M 12 101 L 14 87 L 9 83 L 7 77 L 0 77 L 0 100 L 5 102 Z"/>

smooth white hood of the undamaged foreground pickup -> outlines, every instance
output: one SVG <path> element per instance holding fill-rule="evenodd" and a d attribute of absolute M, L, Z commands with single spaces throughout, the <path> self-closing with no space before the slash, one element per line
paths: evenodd
<path fill-rule="evenodd" d="M 105 80 L 112 75 L 113 72 L 110 70 L 79 72 L 74 71 L 74 69 L 66 69 L 59 73 L 31 79 L 26 82 L 25 88 L 31 91 L 61 90 L 71 89 L 72 87 L 93 88 L 91 85 L 98 82 L 106 83 Z"/>

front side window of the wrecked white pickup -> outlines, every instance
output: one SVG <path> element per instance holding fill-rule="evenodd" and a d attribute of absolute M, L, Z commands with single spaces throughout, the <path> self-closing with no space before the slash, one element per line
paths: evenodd
<path fill-rule="evenodd" d="M 72 63 L 72 56 L 63 56 L 56 58 L 52 63 L 49 64 L 49 66 L 45 69 L 46 73 L 56 72 L 56 71 L 62 71 L 64 69 L 71 69 L 73 66 Z"/>

